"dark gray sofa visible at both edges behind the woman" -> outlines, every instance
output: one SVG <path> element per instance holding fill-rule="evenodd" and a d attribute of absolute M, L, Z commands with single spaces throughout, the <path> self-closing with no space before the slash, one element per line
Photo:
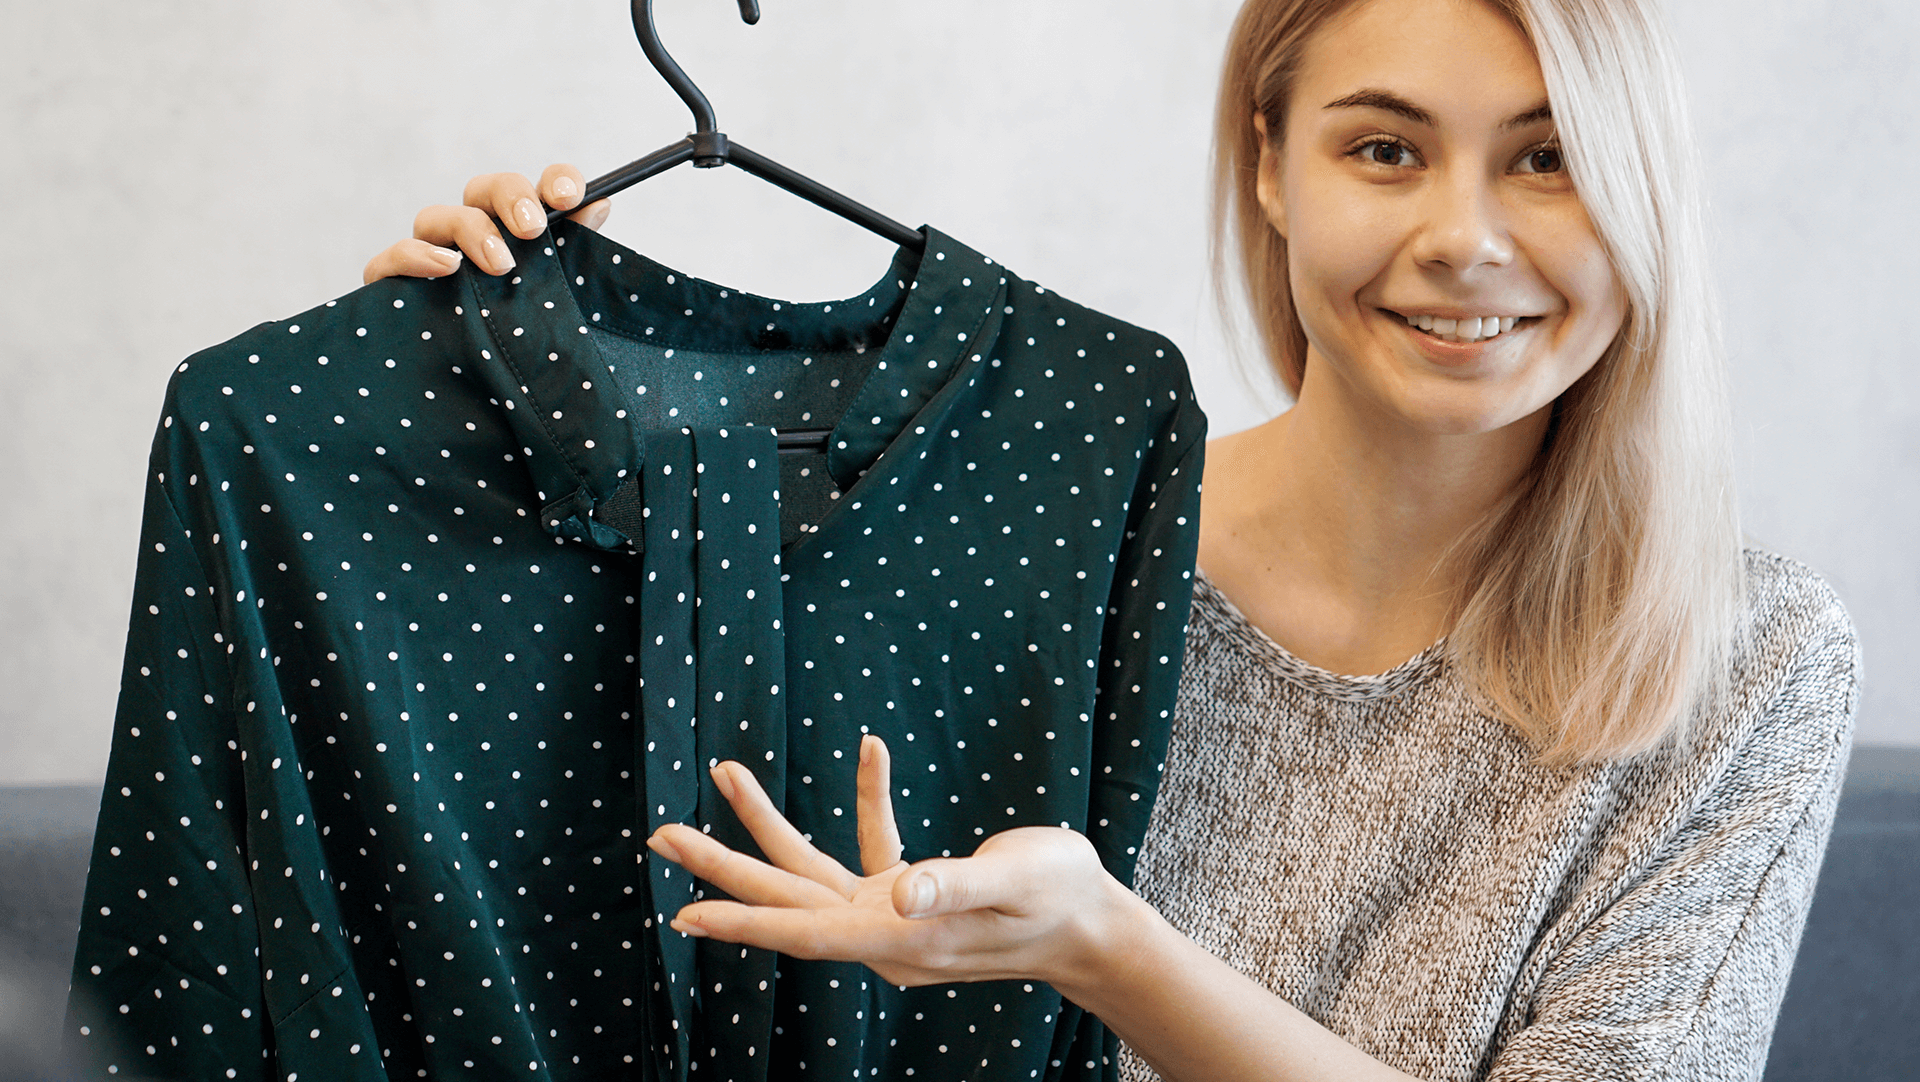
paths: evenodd
<path fill-rule="evenodd" d="M 0 788 L 0 1082 L 54 1061 L 100 790 Z M 1857 746 L 1766 1082 L 1920 1080 L 1920 748 Z"/>

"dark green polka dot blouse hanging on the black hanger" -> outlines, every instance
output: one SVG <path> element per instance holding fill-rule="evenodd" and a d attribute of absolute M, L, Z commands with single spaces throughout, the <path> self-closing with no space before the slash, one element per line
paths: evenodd
<path fill-rule="evenodd" d="M 1108 1078 L 1044 984 L 664 927 L 755 767 L 856 865 L 1085 831 L 1131 879 L 1204 418 L 1162 338 L 929 230 L 781 303 L 559 223 L 194 355 L 154 443 L 69 1038 L 106 1076 Z M 831 428 L 780 455 L 774 428 Z"/>

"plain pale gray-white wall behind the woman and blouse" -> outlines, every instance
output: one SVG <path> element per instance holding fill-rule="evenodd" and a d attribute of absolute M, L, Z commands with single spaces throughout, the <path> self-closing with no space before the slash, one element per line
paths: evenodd
<path fill-rule="evenodd" d="M 171 366 L 359 284 L 482 169 L 589 173 L 678 138 L 616 0 L 65 0 L 0 42 L 0 783 L 96 779 L 142 464 Z M 908 224 L 1152 326 L 1215 432 L 1265 416 L 1206 284 L 1233 0 L 660 0 L 722 129 Z M 1920 744 L 1920 10 L 1692 0 L 1749 529 L 1866 637 L 1860 737 Z M 737 171 L 682 169 L 609 232 L 760 294 L 862 290 L 889 249 Z"/>

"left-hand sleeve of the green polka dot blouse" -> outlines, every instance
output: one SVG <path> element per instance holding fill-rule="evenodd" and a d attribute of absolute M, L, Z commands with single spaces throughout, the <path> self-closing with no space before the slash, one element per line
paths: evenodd
<path fill-rule="evenodd" d="M 156 449 L 65 1042 L 84 1078 L 261 1080 L 230 635 L 167 464 Z"/>

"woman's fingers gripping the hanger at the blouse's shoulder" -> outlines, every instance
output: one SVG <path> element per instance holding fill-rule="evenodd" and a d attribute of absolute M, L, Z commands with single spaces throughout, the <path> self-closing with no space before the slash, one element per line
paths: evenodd
<path fill-rule="evenodd" d="M 363 282 L 380 278 L 442 278 L 459 270 L 465 251 L 474 267 L 488 274 L 513 270 L 513 253 L 499 236 L 499 219 L 520 240 L 532 240 L 547 228 L 547 211 L 566 213 L 572 221 L 599 228 L 612 205 L 599 200 L 574 209 L 586 194 L 586 180 L 572 165 L 549 165 L 540 175 L 540 186 L 518 173 L 486 173 L 467 182 L 459 207 L 426 207 L 413 219 L 413 238 L 390 246 L 367 261 Z M 545 207 L 541 205 L 545 203 Z M 570 213 L 568 213 L 570 211 Z"/>

